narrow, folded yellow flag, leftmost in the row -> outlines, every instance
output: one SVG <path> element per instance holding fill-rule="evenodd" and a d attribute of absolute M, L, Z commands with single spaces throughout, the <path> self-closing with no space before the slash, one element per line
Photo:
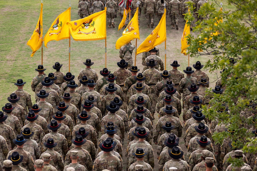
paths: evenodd
<path fill-rule="evenodd" d="M 30 46 L 32 50 L 31 57 L 34 56 L 36 51 L 42 46 L 43 42 L 43 4 L 41 3 L 41 9 L 40 9 L 40 15 L 38 19 L 38 23 L 36 24 L 36 28 L 30 37 L 29 41 L 27 42 L 27 45 Z"/>

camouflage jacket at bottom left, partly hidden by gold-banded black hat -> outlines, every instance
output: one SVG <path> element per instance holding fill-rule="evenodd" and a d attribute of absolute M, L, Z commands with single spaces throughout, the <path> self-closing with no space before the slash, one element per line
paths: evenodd
<path fill-rule="evenodd" d="M 18 152 L 19 155 L 23 156 L 23 160 L 19 163 L 19 166 L 22 166 L 24 169 L 29 171 L 35 171 L 34 160 L 29 152 L 25 151 L 23 148 L 16 148 L 8 153 L 6 159 L 8 159 L 8 156 L 11 156 L 13 152 Z"/>

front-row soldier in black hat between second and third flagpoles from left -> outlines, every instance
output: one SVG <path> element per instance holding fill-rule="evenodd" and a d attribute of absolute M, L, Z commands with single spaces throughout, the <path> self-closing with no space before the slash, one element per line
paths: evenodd
<path fill-rule="evenodd" d="M 95 1 L 94 3 L 99 2 L 98 0 Z M 94 5 L 93 3 L 93 5 Z M 102 3 L 103 4 L 103 3 Z M 93 10 L 93 5 L 92 5 L 92 10 Z M 104 10 L 104 9 L 102 9 Z M 93 12 L 95 13 L 95 12 Z M 82 69 L 78 75 L 78 80 L 81 79 L 84 75 L 87 76 L 88 79 L 93 79 L 96 83 L 98 80 L 98 75 L 94 69 L 91 68 L 91 66 L 94 64 L 94 62 L 91 62 L 91 59 L 86 59 L 86 62 L 83 62 L 84 65 L 87 67 L 85 69 Z M 78 83 L 78 86 L 80 87 L 80 82 Z"/>

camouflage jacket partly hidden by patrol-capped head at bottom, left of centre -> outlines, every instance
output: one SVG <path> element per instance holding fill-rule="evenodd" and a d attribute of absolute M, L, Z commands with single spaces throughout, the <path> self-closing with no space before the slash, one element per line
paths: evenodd
<path fill-rule="evenodd" d="M 88 153 L 87 150 L 83 149 L 82 147 L 75 147 L 75 148 L 72 148 L 68 151 L 66 157 L 65 157 L 65 163 L 64 163 L 64 166 L 67 166 L 71 163 L 71 154 L 70 152 L 72 150 L 75 150 L 75 151 L 78 151 L 78 164 L 81 164 L 83 166 L 85 166 L 85 168 L 87 168 L 87 170 L 92 170 L 93 169 L 93 166 L 92 166 L 92 159 L 90 157 L 90 154 Z"/>

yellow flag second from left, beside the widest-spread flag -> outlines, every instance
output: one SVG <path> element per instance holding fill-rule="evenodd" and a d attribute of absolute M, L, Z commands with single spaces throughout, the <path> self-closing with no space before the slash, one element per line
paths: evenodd
<path fill-rule="evenodd" d="M 47 43 L 55 40 L 70 38 L 69 26 L 66 24 L 70 21 L 70 7 L 63 13 L 61 13 L 52 23 L 47 34 L 44 37 L 44 44 L 47 47 Z"/>

